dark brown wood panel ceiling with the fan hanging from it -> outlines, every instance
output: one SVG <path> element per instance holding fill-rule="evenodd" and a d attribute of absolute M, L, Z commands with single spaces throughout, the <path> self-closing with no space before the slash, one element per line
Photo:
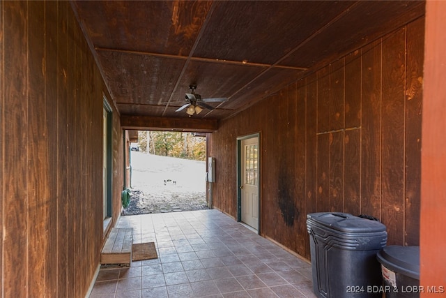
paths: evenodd
<path fill-rule="evenodd" d="M 190 84 L 203 98 L 229 98 L 210 103 L 215 110 L 190 122 L 203 119 L 214 127 L 424 15 L 424 1 L 72 3 L 125 128 L 162 117 L 172 120 L 171 128 L 184 123 L 187 130 L 189 116 L 175 110 L 185 104 Z"/>

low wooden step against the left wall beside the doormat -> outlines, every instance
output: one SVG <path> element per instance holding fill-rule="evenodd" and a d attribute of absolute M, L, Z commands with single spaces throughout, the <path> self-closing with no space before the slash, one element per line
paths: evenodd
<path fill-rule="evenodd" d="M 100 254 L 101 264 L 130 265 L 132 262 L 133 229 L 112 228 Z"/>

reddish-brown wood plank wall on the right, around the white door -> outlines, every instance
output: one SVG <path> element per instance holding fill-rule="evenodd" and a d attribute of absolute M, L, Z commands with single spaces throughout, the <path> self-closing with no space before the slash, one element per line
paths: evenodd
<path fill-rule="evenodd" d="M 215 207 L 236 217 L 236 138 L 260 133 L 261 234 L 309 258 L 307 214 L 344 211 L 418 245 L 423 43 L 421 18 L 222 121 Z"/>

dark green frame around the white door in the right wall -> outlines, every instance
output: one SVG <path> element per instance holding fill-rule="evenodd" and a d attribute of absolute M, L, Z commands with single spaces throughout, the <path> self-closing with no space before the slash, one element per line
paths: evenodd
<path fill-rule="evenodd" d="M 258 223 L 257 226 L 257 234 L 260 234 L 261 229 L 261 142 L 260 142 L 260 133 L 253 133 L 252 135 L 243 135 L 242 137 L 237 137 L 237 221 L 242 221 L 242 189 L 240 188 L 242 186 L 242 141 L 251 139 L 253 137 L 257 138 L 257 144 L 259 146 L 259 154 L 257 156 L 257 165 L 259 167 L 259 173 L 257 179 L 257 200 L 258 200 L 258 208 L 257 208 L 257 214 L 258 214 Z"/>

